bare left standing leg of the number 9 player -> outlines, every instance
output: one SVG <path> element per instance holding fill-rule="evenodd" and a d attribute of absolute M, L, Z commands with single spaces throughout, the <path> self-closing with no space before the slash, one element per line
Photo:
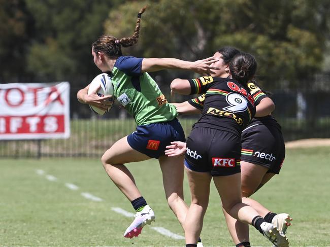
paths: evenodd
<path fill-rule="evenodd" d="M 190 193 L 191 204 L 185 220 L 186 243 L 197 243 L 203 228 L 203 219 L 209 204 L 211 174 L 196 172 L 185 167 Z"/>

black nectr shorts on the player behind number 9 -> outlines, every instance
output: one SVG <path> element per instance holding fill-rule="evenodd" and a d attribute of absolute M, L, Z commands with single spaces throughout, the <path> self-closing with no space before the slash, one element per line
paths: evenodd
<path fill-rule="evenodd" d="M 278 174 L 285 158 L 281 130 L 272 125 L 254 124 L 242 133 L 242 161 L 267 167 Z"/>

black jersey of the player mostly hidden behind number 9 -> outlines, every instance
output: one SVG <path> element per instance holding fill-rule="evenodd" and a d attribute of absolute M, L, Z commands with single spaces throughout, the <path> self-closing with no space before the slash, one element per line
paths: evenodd
<path fill-rule="evenodd" d="M 255 83 L 249 82 L 247 84 L 247 86 L 250 91 L 250 94 L 252 95 L 252 97 L 254 99 L 255 105 L 258 105 L 260 103 L 261 99 L 268 97 L 268 95 Z M 197 98 L 189 99 L 188 102 L 194 108 L 199 109 L 200 111 L 203 111 L 204 100 L 205 100 L 205 94 L 202 94 Z M 281 128 L 281 126 L 278 124 L 278 122 L 272 115 L 268 115 L 265 117 L 254 117 L 247 127 L 254 125 L 254 124 L 266 124 L 266 125 L 271 124 L 271 125 L 277 126 L 278 128 Z"/>

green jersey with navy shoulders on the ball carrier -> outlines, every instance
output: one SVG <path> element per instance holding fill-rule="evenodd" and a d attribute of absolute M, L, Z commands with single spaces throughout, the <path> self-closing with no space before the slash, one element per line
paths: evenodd
<path fill-rule="evenodd" d="M 120 56 L 112 69 L 114 96 L 135 118 L 137 125 L 171 121 L 176 108 L 169 104 L 148 73 L 141 72 L 143 58 Z"/>

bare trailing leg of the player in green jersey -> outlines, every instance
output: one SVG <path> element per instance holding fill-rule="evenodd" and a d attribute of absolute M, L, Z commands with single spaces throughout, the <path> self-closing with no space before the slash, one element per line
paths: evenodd
<path fill-rule="evenodd" d="M 166 199 L 184 229 L 188 206 L 183 200 L 183 156 L 159 157 Z"/>

